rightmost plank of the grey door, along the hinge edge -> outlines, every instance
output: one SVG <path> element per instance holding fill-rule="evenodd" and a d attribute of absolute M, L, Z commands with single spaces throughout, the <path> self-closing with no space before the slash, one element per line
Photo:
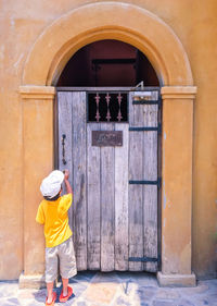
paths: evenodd
<path fill-rule="evenodd" d="M 144 125 L 157 126 L 158 106 L 144 106 Z M 157 132 L 144 132 L 144 180 L 157 180 Z M 143 186 L 144 256 L 157 257 L 157 186 Z M 144 264 L 144 270 L 155 272 L 156 262 Z"/>

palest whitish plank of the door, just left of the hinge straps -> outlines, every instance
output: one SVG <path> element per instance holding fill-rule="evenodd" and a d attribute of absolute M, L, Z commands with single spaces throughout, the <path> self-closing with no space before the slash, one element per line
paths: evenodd
<path fill-rule="evenodd" d="M 115 270 L 128 270 L 128 143 L 129 124 L 115 124 L 123 131 L 123 146 L 115 147 Z"/>

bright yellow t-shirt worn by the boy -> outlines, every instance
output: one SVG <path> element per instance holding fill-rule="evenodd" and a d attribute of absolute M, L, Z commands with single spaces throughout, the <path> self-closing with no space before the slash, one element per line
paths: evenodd
<path fill-rule="evenodd" d="M 72 236 L 68 225 L 67 210 L 73 201 L 73 195 L 67 194 L 54 201 L 43 199 L 36 216 L 36 221 L 44 224 L 46 246 L 53 247 Z"/>

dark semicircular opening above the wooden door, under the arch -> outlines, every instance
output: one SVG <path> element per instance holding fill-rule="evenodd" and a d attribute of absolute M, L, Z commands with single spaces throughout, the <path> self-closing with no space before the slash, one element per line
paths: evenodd
<path fill-rule="evenodd" d="M 148 58 L 136 47 L 119 40 L 100 40 L 79 49 L 59 77 L 58 87 L 159 86 Z"/>

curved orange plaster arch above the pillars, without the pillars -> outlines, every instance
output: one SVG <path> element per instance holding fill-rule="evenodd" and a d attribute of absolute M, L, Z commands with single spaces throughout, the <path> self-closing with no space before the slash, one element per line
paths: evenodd
<path fill-rule="evenodd" d="M 55 85 L 69 58 L 101 39 L 117 39 L 140 49 L 164 86 L 193 83 L 187 53 L 166 23 L 133 4 L 98 2 L 68 12 L 44 29 L 27 57 L 22 85 Z"/>

